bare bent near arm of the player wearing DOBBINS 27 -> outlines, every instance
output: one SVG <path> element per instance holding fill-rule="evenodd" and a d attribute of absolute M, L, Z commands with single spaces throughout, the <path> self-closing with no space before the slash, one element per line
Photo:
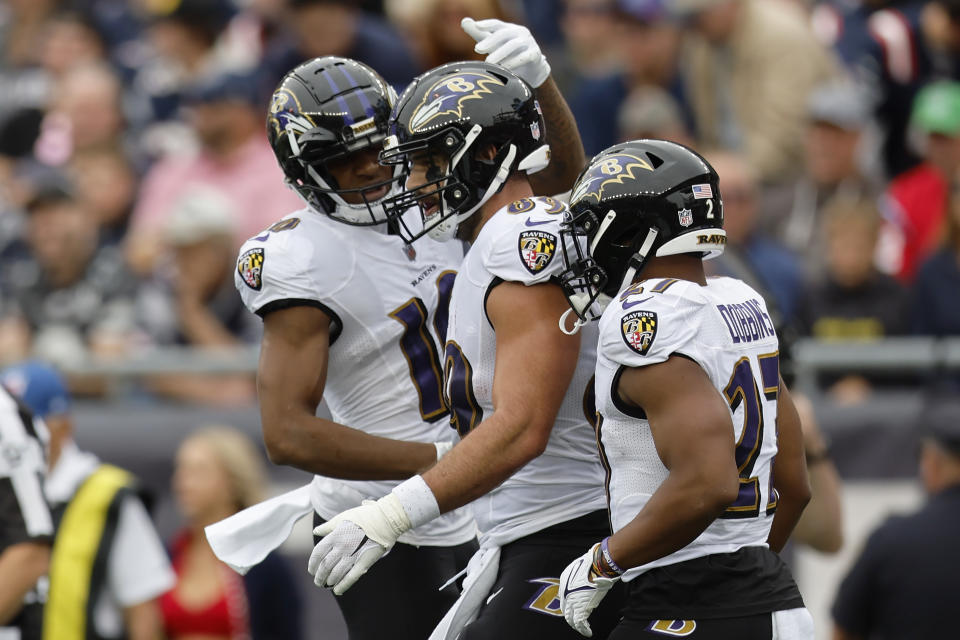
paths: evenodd
<path fill-rule="evenodd" d="M 646 411 L 670 471 L 640 513 L 610 537 L 610 555 L 628 568 L 690 544 L 736 499 L 740 481 L 730 411 L 699 365 L 673 356 L 630 368 L 617 391 Z"/>

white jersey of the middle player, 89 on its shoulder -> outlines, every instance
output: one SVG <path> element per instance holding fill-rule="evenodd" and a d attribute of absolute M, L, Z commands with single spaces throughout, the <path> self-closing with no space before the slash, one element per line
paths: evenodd
<path fill-rule="evenodd" d="M 501 281 L 549 282 L 563 270 L 559 227 L 565 205 L 527 198 L 490 218 L 467 252 L 450 300 L 444 384 L 461 435 L 493 411 L 497 338 L 486 299 Z M 552 330 L 560 331 L 558 318 Z M 605 508 L 603 468 L 592 427 L 595 327 L 584 327 L 580 358 L 544 453 L 472 504 L 481 540 L 506 544 Z M 588 408 L 589 407 L 589 408 Z"/>

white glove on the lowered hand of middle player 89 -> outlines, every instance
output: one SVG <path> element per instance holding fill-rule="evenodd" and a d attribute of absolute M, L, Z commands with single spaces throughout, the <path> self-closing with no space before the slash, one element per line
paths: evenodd
<path fill-rule="evenodd" d="M 313 548 L 307 571 L 318 587 L 332 587 L 336 595 L 343 595 L 410 528 L 394 494 L 376 502 L 364 500 L 313 530 L 323 540 Z"/>

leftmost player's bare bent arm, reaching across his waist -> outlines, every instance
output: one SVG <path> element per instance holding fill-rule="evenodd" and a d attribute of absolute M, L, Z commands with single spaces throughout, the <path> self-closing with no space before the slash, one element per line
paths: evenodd
<path fill-rule="evenodd" d="M 433 443 L 373 436 L 315 416 L 323 398 L 330 318 L 314 307 L 264 318 L 257 393 L 270 460 L 352 480 L 409 478 L 437 459 Z"/>

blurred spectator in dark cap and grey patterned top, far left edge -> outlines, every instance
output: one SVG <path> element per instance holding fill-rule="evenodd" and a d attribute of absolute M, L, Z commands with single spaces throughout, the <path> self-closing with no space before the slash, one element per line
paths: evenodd
<path fill-rule="evenodd" d="M 118 248 L 98 245 L 97 222 L 65 181 L 45 178 L 26 205 L 26 246 L 3 256 L 0 354 L 59 364 L 126 350 L 135 281 Z"/>

